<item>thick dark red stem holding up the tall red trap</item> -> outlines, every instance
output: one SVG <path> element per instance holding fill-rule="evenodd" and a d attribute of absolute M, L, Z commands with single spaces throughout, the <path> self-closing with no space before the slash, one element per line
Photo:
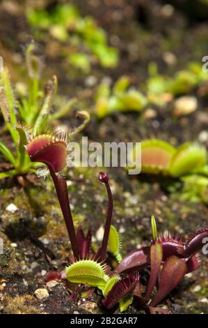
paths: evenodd
<path fill-rule="evenodd" d="M 49 169 L 51 173 L 51 177 L 54 180 L 54 186 L 56 188 L 56 193 L 58 196 L 58 201 L 61 206 L 61 211 L 63 214 L 63 218 L 65 220 L 65 225 L 67 227 L 67 232 L 70 237 L 70 242 L 72 245 L 72 251 L 74 253 L 75 260 L 79 260 L 79 251 L 77 245 L 77 237 L 74 229 L 74 223 L 72 219 L 72 212 L 70 209 L 70 202 L 67 191 L 67 184 L 64 179 L 57 177 L 56 173 L 53 169 Z"/>

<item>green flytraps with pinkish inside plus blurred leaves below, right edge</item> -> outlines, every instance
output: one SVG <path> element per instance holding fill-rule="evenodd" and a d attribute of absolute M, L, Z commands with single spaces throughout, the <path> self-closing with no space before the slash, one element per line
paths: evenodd
<path fill-rule="evenodd" d="M 136 149 L 134 154 L 138 154 Z M 178 179 L 183 183 L 185 200 L 207 203 L 207 150 L 197 143 L 186 142 L 175 148 L 163 140 L 144 140 L 141 143 L 141 172 Z"/>

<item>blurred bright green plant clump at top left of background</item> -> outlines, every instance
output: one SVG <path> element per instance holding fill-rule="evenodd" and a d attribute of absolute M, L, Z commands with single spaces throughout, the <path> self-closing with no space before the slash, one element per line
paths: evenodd
<path fill-rule="evenodd" d="M 104 68 L 117 66 L 118 50 L 109 47 L 104 29 L 98 27 L 93 17 L 81 17 L 72 3 L 58 4 L 51 10 L 29 8 L 26 15 L 35 28 L 35 37 L 42 39 L 49 33 L 68 45 L 61 54 L 83 73 L 89 73 L 93 59 Z"/>

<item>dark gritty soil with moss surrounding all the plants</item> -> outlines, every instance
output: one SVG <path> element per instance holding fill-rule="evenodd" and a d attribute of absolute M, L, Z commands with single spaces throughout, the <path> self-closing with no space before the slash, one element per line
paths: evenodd
<path fill-rule="evenodd" d="M 24 17 L 24 1 L 1 2 L 0 54 L 10 68 L 13 81 L 17 82 L 19 78 L 24 80 L 24 49 L 33 39 L 33 31 Z M 27 2 L 34 5 L 34 1 Z M 38 2 L 54 6 L 58 1 Z M 90 75 L 97 78 L 97 84 L 104 77 L 110 77 L 113 83 L 126 74 L 131 77 L 132 84 L 143 89 L 150 61 L 157 62 L 161 73 L 172 75 L 184 68 L 187 61 L 201 61 L 208 53 L 208 23 L 200 10 L 193 15 L 192 10 L 189 13 L 185 8 L 177 7 L 173 15 L 167 17 L 163 9 L 166 1 L 72 2 L 79 6 L 83 15 L 93 15 L 111 36 L 109 43 L 120 49 L 118 68 L 93 67 Z M 45 64 L 43 80 L 56 73 L 58 94 L 68 98 L 77 96 L 79 109 L 89 108 L 93 112 L 97 84 L 88 87 L 85 76 L 66 69 L 64 60 L 51 52 L 53 46 L 50 39 L 38 44 L 38 53 Z M 174 66 L 168 66 L 164 60 L 163 54 L 167 51 L 177 58 Z M 198 96 L 197 90 L 193 91 L 193 96 L 198 98 L 200 106 L 189 116 L 175 119 L 171 105 L 155 108 L 156 116 L 152 119 L 148 119 L 145 112 L 115 113 L 98 121 L 92 114 L 83 134 L 97 142 L 139 142 L 159 137 L 179 145 L 198 140 L 200 133 L 207 131 L 207 100 Z M 74 114 L 62 119 L 61 124 L 73 126 Z M 10 144 L 8 137 L 3 138 Z M 1 157 L 0 172 L 5 170 L 5 165 L 8 164 Z M 98 244 L 99 227 L 104 223 L 107 207 L 105 191 L 96 178 L 99 170 L 73 169 L 67 174 L 75 225 L 82 223 L 85 228 L 92 225 L 94 242 Z M 168 229 L 186 234 L 207 223 L 205 204 L 182 200 L 179 191 L 168 193 L 167 186 L 173 181 L 142 176 L 129 178 L 122 168 L 111 168 L 108 172 L 115 199 L 113 225 L 122 237 L 122 255 L 148 244 L 152 214 L 156 216 L 161 232 Z M 38 180 L 33 174 L 29 177 L 32 182 L 26 188 L 15 178 L 0 181 L 0 237 L 5 246 L 0 255 L 0 313 L 104 313 L 99 292 L 82 291 L 75 299 L 70 299 L 65 282 L 50 285 L 45 281 L 47 272 L 64 269 L 71 248 L 51 180 Z M 15 214 L 6 211 L 10 203 L 17 206 Z M 42 245 L 47 248 L 47 255 L 52 252 L 54 258 L 45 256 Z M 173 313 L 208 313 L 207 269 L 208 258 L 202 255 L 200 269 L 187 275 L 161 306 L 168 305 Z M 37 299 L 35 290 L 38 288 L 47 289 L 49 297 Z M 119 313 L 116 307 L 113 311 Z M 133 304 L 127 313 L 139 312 Z"/>

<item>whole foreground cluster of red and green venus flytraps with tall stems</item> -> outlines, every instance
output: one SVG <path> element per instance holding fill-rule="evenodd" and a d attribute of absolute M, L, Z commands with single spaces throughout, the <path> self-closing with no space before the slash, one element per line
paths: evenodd
<path fill-rule="evenodd" d="M 152 241 L 150 246 L 134 249 L 122 259 L 118 232 L 111 225 L 113 197 L 109 186 L 109 177 L 101 172 L 99 181 L 105 184 L 109 198 L 109 207 L 104 227 L 102 246 L 93 253 L 91 249 L 91 231 L 84 234 L 81 227 L 74 230 L 67 183 L 59 171 L 63 170 L 67 156 L 67 138 L 58 135 L 38 135 L 26 145 L 26 150 L 33 162 L 45 163 L 49 168 L 63 218 L 70 237 L 74 261 L 66 268 L 68 281 L 86 284 L 102 290 L 102 304 L 113 308 L 119 303 L 120 311 L 125 311 L 133 299 L 138 307 L 154 313 L 160 311 L 159 304 L 175 288 L 186 274 L 199 267 L 198 251 L 202 240 L 208 237 L 208 228 L 199 230 L 189 239 L 182 239 L 170 234 L 158 237 L 157 227 L 152 217 Z M 167 168 L 167 167 L 166 167 Z M 118 260 L 118 267 L 107 266 L 109 253 Z M 140 278 L 145 268 L 150 268 L 150 277 L 145 294 L 142 292 Z M 158 283 L 158 284 L 157 284 Z M 155 286 L 158 285 L 155 294 Z M 162 310 L 161 310 L 162 311 Z"/>

